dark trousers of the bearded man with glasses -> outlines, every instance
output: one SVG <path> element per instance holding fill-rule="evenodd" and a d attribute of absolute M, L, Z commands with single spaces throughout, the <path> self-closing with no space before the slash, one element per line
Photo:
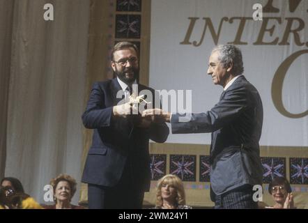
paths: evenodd
<path fill-rule="evenodd" d="M 88 184 L 89 209 L 141 209 L 144 189 L 134 182 L 130 162 L 125 164 L 123 176 L 114 187 Z"/>

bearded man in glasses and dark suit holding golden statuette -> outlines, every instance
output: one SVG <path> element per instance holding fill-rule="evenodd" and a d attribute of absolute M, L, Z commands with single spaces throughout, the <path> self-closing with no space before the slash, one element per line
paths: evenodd
<path fill-rule="evenodd" d="M 82 115 L 84 126 L 94 129 L 82 182 L 88 183 L 89 208 L 141 208 L 151 183 L 149 139 L 166 141 L 169 128 L 132 112 L 130 99 L 140 91 L 155 101 L 153 89 L 137 84 L 137 47 L 118 43 L 111 58 L 116 78 L 93 84 Z"/>

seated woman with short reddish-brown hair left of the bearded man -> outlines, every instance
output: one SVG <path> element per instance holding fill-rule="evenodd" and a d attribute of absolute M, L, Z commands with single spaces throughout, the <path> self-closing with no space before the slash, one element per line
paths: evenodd
<path fill-rule="evenodd" d="M 83 209 L 70 203 L 76 192 L 76 180 L 67 174 L 60 174 L 50 181 L 54 189 L 54 205 L 43 206 L 45 209 Z"/>

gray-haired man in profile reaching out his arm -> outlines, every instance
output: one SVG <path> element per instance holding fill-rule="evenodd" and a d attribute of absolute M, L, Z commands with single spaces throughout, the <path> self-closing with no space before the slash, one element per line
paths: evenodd
<path fill-rule="evenodd" d="M 257 208 L 253 186 L 262 184 L 259 139 L 263 106 L 243 71 L 240 49 L 219 45 L 210 55 L 208 75 L 224 91 L 210 111 L 185 114 L 185 118 L 160 109 L 143 112 L 153 121 L 170 122 L 172 133 L 212 132 L 210 183 L 215 208 Z"/>

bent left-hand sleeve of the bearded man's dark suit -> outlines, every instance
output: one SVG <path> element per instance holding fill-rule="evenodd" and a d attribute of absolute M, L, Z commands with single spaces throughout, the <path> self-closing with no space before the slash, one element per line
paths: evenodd
<path fill-rule="evenodd" d="M 98 83 L 94 83 L 86 111 L 82 114 L 84 127 L 94 129 L 111 125 L 112 107 L 105 106 L 105 93 Z"/>

